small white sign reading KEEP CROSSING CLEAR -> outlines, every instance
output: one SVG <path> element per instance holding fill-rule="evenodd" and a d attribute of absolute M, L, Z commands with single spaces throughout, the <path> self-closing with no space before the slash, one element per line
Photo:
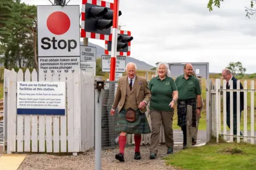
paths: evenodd
<path fill-rule="evenodd" d="M 96 62 L 96 47 L 81 45 L 80 51 L 81 51 L 80 61 Z"/>

